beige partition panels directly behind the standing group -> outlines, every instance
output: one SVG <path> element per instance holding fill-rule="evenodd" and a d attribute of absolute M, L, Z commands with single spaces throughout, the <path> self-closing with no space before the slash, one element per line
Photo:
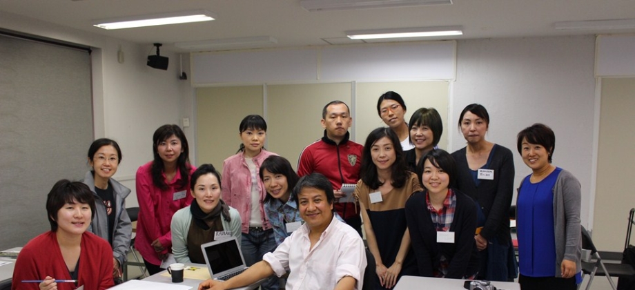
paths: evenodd
<path fill-rule="evenodd" d="M 406 121 L 415 110 L 436 108 L 448 130 L 448 82 L 404 81 L 383 83 L 289 84 L 199 88 L 197 107 L 197 163 L 222 167 L 222 161 L 240 146 L 238 126 L 246 115 L 257 114 L 267 122 L 266 148 L 297 165 L 302 149 L 320 139 L 324 129 L 322 108 L 339 99 L 351 107 L 351 139 L 364 144 L 367 135 L 385 126 L 377 113 L 377 100 L 388 90 L 404 97 Z M 440 148 L 447 148 L 447 133 Z"/>

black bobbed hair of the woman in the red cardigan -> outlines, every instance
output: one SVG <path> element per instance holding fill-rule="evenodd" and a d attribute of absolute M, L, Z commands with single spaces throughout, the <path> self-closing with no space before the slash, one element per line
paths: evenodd
<path fill-rule="evenodd" d="M 83 182 L 70 182 L 69 180 L 59 180 L 53 185 L 46 197 L 46 213 L 50 230 L 57 231 L 57 212 L 64 207 L 64 204 L 79 202 L 90 206 L 90 219 L 95 218 L 95 196 L 88 189 L 88 185 Z M 88 222 L 88 221 L 87 221 Z"/>

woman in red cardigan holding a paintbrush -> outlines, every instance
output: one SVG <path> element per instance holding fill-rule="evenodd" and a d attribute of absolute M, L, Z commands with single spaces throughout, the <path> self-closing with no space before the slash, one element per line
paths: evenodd
<path fill-rule="evenodd" d="M 108 289 L 113 280 L 110 244 L 86 231 L 95 215 L 95 197 L 86 184 L 59 180 L 46 198 L 50 231 L 20 251 L 11 289 Z M 43 282 L 22 282 L 43 280 Z M 76 282 L 55 282 L 75 280 Z"/>

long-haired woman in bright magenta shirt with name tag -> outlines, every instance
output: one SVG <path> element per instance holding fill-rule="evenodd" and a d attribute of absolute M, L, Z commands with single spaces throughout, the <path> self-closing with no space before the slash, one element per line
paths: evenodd
<path fill-rule="evenodd" d="M 190 205 L 190 175 L 185 134 L 177 125 L 164 125 L 153 135 L 154 160 L 137 170 L 139 219 L 135 248 L 144 258 L 148 273 L 162 271 L 161 263 L 172 253 L 172 215 Z"/>

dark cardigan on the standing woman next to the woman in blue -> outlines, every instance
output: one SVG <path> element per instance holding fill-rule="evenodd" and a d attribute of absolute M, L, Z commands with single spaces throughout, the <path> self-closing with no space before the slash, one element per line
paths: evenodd
<path fill-rule="evenodd" d="M 498 238 L 500 244 L 510 244 L 509 207 L 514 195 L 514 156 L 509 149 L 498 144 L 494 144 L 491 150 L 494 155 L 486 168 L 494 169 L 494 180 L 480 180 L 478 187 L 469 172 L 466 147 L 452 153 L 458 172 L 455 186 L 476 200 L 485 214 L 487 220 L 480 235 L 488 241 Z"/>

